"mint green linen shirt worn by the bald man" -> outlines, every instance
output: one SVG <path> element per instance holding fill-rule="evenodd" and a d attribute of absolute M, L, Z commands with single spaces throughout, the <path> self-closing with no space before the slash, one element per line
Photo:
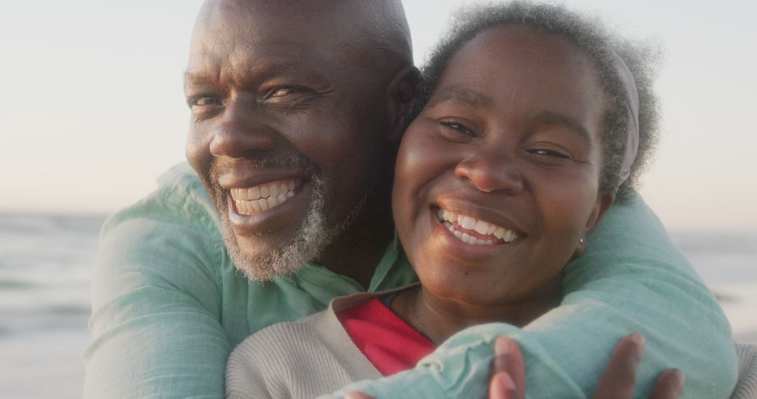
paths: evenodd
<path fill-rule="evenodd" d="M 315 264 L 291 279 L 249 283 L 227 255 L 217 213 L 192 169 L 177 165 L 158 183 L 104 224 L 85 397 L 223 397 L 226 359 L 245 337 L 363 290 Z M 467 329 L 416 369 L 357 388 L 378 397 L 483 397 L 491 342 L 506 334 L 525 353 L 529 397 L 583 397 L 618 340 L 643 332 L 640 397 L 668 367 L 684 370 L 689 397 L 727 397 L 737 377 L 730 327 L 643 201 L 614 206 L 588 248 L 566 269 L 562 305 L 525 329 Z M 368 289 L 414 279 L 395 240 Z"/>

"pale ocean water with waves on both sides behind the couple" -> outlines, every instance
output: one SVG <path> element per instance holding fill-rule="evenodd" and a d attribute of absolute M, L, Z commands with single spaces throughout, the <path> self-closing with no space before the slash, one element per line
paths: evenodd
<path fill-rule="evenodd" d="M 81 397 L 103 217 L 0 214 L 0 397 Z M 757 233 L 673 231 L 734 336 L 757 343 Z"/>

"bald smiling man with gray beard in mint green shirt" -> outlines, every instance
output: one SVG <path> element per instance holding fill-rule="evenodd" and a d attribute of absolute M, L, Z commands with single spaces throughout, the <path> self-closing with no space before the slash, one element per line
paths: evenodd
<path fill-rule="evenodd" d="M 194 170 L 171 169 L 157 191 L 104 225 L 85 396 L 223 397 L 226 359 L 251 332 L 313 314 L 335 296 L 412 282 L 389 191 L 417 79 L 399 0 L 208 1 L 185 76 Z M 491 358 L 499 334 L 519 337 L 529 373 L 554 381 L 549 389 L 596 385 L 632 331 L 651 349 L 645 386 L 668 367 L 696 378 L 715 363 L 724 367 L 712 370 L 710 388 L 730 389 L 727 321 L 659 221 L 637 199 L 603 223 L 566 277 L 571 316 L 562 327 L 538 336 L 491 325 L 453 336 L 438 354 L 445 367 L 419 368 L 388 386 L 388 397 L 485 388 L 488 376 L 464 366 Z M 634 275 L 640 259 L 664 284 Z M 618 286 L 655 299 L 639 305 Z M 648 308 L 681 298 L 690 313 L 674 320 Z M 586 326 L 603 331 L 569 346 L 550 339 L 585 338 Z M 692 353 L 683 356 L 689 364 L 656 354 L 671 342 L 666 354 Z M 549 391 L 531 391 L 540 392 Z"/>

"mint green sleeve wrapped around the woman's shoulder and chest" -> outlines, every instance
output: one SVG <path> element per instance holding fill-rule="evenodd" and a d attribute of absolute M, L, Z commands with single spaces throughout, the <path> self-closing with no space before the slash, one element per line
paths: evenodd
<path fill-rule="evenodd" d="M 730 326 L 640 196 L 613 206 L 588 248 L 566 267 L 562 304 L 534 323 L 466 329 L 415 369 L 333 397 L 352 390 L 377 398 L 484 397 L 492 344 L 503 335 L 524 352 L 528 397 L 590 397 L 615 345 L 631 332 L 646 338 L 635 397 L 648 397 L 669 367 L 684 371 L 684 397 L 728 397 L 737 379 Z"/>

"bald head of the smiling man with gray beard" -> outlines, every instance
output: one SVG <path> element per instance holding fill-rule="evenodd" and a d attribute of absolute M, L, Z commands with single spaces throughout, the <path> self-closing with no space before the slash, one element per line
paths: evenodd
<path fill-rule="evenodd" d="M 187 158 L 237 267 L 270 280 L 318 259 L 367 286 L 417 79 L 401 5 L 208 2 L 191 54 Z"/>

